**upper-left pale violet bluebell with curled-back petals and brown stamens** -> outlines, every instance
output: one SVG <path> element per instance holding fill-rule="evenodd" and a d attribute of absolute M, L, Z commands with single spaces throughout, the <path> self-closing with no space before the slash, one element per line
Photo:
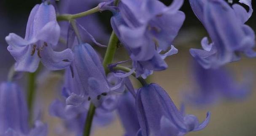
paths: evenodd
<path fill-rule="evenodd" d="M 23 39 L 10 33 L 5 37 L 7 47 L 16 60 L 16 71 L 35 72 L 39 62 L 50 70 L 66 68 L 73 60 L 70 49 L 55 52 L 53 48 L 59 41 L 60 28 L 52 5 L 35 5 L 27 21 L 26 35 Z"/>

